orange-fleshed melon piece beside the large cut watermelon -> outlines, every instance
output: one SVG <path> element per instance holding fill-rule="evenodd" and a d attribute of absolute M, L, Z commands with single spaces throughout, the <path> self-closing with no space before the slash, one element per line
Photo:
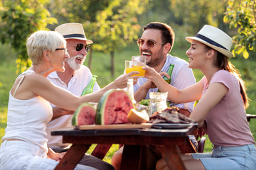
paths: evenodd
<path fill-rule="evenodd" d="M 132 108 L 129 111 L 127 118 L 131 123 L 146 123 L 146 121 L 149 121 L 149 114 L 146 113 L 145 110 L 136 111 L 134 108 Z"/>

